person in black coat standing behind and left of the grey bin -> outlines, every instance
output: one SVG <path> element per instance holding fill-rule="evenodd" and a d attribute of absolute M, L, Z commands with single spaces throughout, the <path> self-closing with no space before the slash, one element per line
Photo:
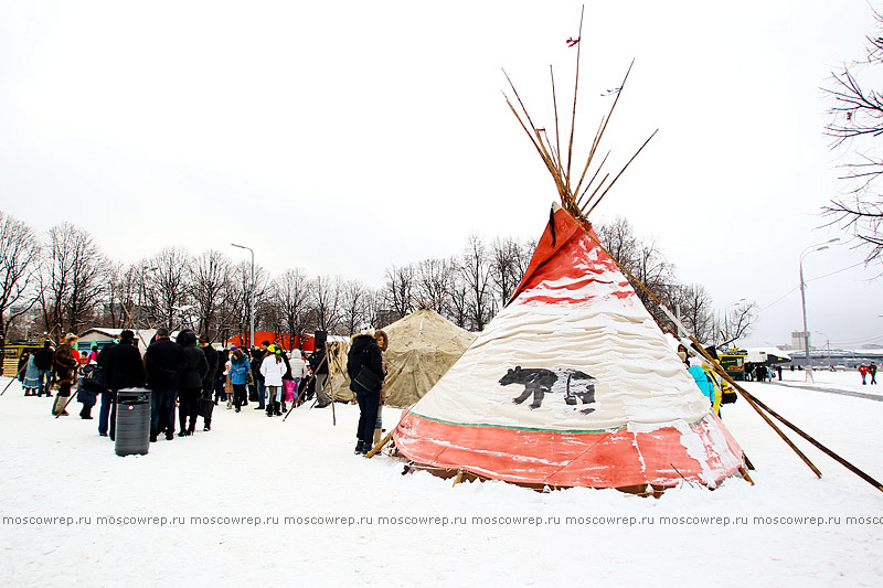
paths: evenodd
<path fill-rule="evenodd" d="M 97 360 L 96 360 L 97 362 Z M 119 335 L 119 343 L 111 345 L 104 354 L 106 391 L 102 393 L 102 410 L 98 413 L 98 435 L 107 437 L 108 416 L 110 439 L 116 432 L 117 392 L 124 388 L 140 388 L 145 385 L 145 365 L 141 352 L 135 344 L 135 333 L 126 329 Z"/>

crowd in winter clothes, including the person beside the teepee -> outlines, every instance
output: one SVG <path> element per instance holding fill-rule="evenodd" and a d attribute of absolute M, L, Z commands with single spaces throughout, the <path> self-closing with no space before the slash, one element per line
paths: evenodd
<path fill-rule="evenodd" d="M 100 351 L 93 343 L 88 353 L 81 353 L 77 341 L 76 335 L 67 334 L 54 350 L 46 341 L 42 349 L 22 354 L 19 378 L 24 395 L 51 397 L 52 385 L 57 385 L 53 414 L 67 416 L 65 408 L 78 381 L 81 418 L 93 419 L 92 409 L 100 402 L 98 435 L 110 439 L 115 437 L 117 393 L 125 388 L 146 386 L 151 391 L 151 442 L 160 435 L 168 440 L 175 437 L 175 408 L 178 437 L 189 437 L 200 416 L 203 430 L 211 430 L 213 407 L 221 402 L 240 413 L 251 400 L 268 417 L 281 416 L 287 403 L 309 402 L 313 395 L 318 408 L 333 402 L 326 392 L 329 359 L 323 346 L 308 359 L 300 350 L 287 352 L 268 341 L 254 350 L 215 350 L 206 336 L 198 338 L 191 330 L 181 331 L 172 341 L 164 328 L 157 330 L 143 357 L 128 329 Z M 368 453 L 382 429 L 387 345 L 386 333 L 370 324 L 361 325 L 352 338 L 347 373 L 360 409 L 357 455 Z"/>

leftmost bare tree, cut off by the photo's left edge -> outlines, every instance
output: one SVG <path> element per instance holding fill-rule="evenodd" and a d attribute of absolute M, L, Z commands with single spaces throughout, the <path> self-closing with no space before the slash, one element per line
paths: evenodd
<path fill-rule="evenodd" d="M 6 333 L 7 311 L 13 306 L 9 320 L 28 312 L 36 301 L 31 286 L 40 263 L 40 240 L 33 229 L 0 211 L 0 345 Z M 1 354 L 0 354 L 1 355 Z"/>

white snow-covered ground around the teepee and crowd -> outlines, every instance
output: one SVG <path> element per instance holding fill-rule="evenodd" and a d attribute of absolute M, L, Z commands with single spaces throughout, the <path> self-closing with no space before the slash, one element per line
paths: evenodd
<path fill-rule="evenodd" d="M 802 377 L 746 387 L 883 480 L 883 402 L 789 387 Z M 816 381 L 871 388 L 855 372 Z M 659 500 L 403 477 L 352 455 L 354 406 L 337 405 L 337 426 L 329 408 L 283 423 L 217 407 L 211 432 L 120 458 L 97 419 L 50 405 L 18 383 L 0 398 L 3 586 L 880 586 L 883 573 L 883 493 L 791 436 L 816 479 L 744 399 L 723 418 L 756 485 Z"/>

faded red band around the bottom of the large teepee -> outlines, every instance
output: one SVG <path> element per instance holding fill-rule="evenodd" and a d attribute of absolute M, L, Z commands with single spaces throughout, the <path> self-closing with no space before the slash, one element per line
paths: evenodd
<path fill-rule="evenodd" d="M 649 432 L 524 431 L 454 425 L 406 415 L 394 432 L 396 448 L 409 460 L 442 469 L 466 470 L 486 478 L 552 488 L 625 488 L 677 485 L 684 478 L 720 482 L 738 466 L 723 467 L 714 431 L 726 440 L 730 463 L 742 462 L 742 450 L 713 416 L 690 427 L 701 440 L 700 463 L 681 443 L 681 432 L 662 427 Z M 737 457 L 738 456 L 738 457 Z M 713 480 L 700 474 L 712 472 Z M 706 474 L 708 475 L 708 474 Z"/>

